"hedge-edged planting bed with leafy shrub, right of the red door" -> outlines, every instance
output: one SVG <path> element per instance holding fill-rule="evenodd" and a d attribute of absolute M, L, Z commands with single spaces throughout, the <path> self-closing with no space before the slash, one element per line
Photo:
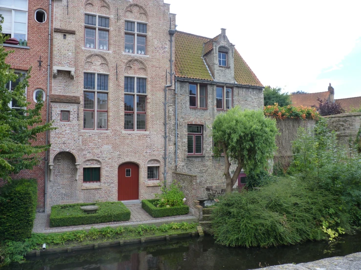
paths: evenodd
<path fill-rule="evenodd" d="M 155 194 L 155 199 L 142 200 L 142 208 L 152 217 L 184 215 L 189 213 L 186 198 L 178 184 L 171 184 L 169 188 L 162 187 L 161 194 Z"/>

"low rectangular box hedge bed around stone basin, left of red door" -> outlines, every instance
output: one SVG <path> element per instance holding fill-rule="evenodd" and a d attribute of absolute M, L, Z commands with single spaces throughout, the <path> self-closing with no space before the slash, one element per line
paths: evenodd
<path fill-rule="evenodd" d="M 86 214 L 81 206 L 97 205 L 96 213 Z M 126 221 L 130 210 L 122 202 L 96 202 L 54 205 L 51 207 L 50 227 L 64 227 L 85 224 Z"/>

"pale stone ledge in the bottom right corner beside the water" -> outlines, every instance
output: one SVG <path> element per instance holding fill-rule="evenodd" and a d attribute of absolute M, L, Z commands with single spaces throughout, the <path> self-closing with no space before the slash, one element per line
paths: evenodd
<path fill-rule="evenodd" d="M 257 270 L 361 270 L 361 252 L 344 257 L 331 257 L 310 263 L 284 264 Z"/>

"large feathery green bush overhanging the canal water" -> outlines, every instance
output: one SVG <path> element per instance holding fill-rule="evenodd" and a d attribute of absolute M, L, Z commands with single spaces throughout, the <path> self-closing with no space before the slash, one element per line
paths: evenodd
<path fill-rule="evenodd" d="M 226 195 L 212 212 L 216 242 L 226 246 L 270 247 L 327 238 L 349 230 L 349 216 L 332 193 L 295 177 L 280 178 L 259 191 Z"/>

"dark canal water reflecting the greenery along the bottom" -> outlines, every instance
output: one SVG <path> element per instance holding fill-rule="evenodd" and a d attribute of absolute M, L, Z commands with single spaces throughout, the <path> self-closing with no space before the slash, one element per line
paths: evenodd
<path fill-rule="evenodd" d="M 190 238 L 169 242 L 59 253 L 27 258 L 1 270 L 246 270 L 302 263 L 361 251 L 361 233 L 337 243 L 306 242 L 279 248 L 227 248 Z"/>

